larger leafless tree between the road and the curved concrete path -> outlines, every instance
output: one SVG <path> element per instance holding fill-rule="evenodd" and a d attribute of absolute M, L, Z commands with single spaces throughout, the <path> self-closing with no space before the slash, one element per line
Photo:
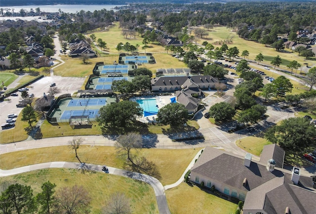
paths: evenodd
<path fill-rule="evenodd" d="M 116 149 L 118 149 L 119 152 L 124 151 L 127 154 L 127 159 L 131 162 L 131 150 L 138 151 L 142 148 L 143 145 L 143 139 L 142 136 L 135 133 L 129 133 L 126 135 L 121 135 L 118 138 L 118 141 L 115 143 Z"/>

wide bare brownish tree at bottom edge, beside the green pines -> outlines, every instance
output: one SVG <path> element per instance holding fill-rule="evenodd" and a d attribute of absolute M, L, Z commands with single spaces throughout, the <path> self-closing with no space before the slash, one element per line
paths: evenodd
<path fill-rule="evenodd" d="M 62 187 L 56 191 L 56 213 L 87 214 L 90 212 L 91 198 L 89 192 L 83 187 Z"/>

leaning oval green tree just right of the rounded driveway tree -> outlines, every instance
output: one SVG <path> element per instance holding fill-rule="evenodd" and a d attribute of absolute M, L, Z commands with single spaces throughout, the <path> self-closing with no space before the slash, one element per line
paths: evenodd
<path fill-rule="evenodd" d="M 267 112 L 267 107 L 259 104 L 254 105 L 239 114 L 239 123 L 254 123 L 260 119 L 260 117 Z"/>

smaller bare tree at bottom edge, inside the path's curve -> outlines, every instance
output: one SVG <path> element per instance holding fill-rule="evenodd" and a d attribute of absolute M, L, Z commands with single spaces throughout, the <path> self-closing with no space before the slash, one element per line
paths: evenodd
<path fill-rule="evenodd" d="M 106 207 L 103 208 L 103 214 L 131 214 L 130 199 L 122 192 L 115 192 L 111 195 Z"/>

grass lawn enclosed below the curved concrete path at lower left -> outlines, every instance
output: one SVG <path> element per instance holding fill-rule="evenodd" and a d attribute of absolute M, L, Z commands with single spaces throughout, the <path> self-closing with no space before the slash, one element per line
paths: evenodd
<path fill-rule="evenodd" d="M 122 192 L 130 200 L 133 213 L 158 214 L 154 189 L 147 183 L 105 173 L 80 173 L 75 169 L 44 169 L 0 178 L 30 185 L 37 195 L 43 182 L 55 183 L 56 190 L 63 186 L 82 185 L 91 197 L 91 214 L 101 213 L 111 194 Z"/>

